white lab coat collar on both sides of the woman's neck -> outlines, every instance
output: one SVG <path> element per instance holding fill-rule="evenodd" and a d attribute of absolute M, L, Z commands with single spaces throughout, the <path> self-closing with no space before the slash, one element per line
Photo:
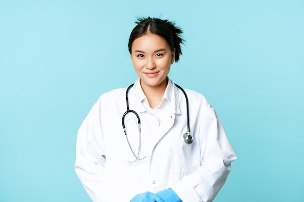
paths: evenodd
<path fill-rule="evenodd" d="M 181 110 L 180 110 L 180 105 L 179 105 L 179 93 L 178 93 L 178 89 L 175 85 L 173 85 L 174 83 L 172 82 L 171 79 L 169 79 L 168 81 L 168 85 L 166 88 L 166 91 L 164 93 L 163 99 L 167 99 L 170 105 L 170 108 L 174 109 L 174 113 L 175 114 L 180 114 Z M 147 109 L 145 109 L 145 107 L 142 105 L 141 101 L 143 99 L 147 99 L 141 86 L 140 86 L 140 78 L 138 78 L 132 88 L 132 91 L 130 91 L 130 93 L 132 92 L 133 96 L 135 96 L 137 98 L 136 105 L 134 105 L 134 107 L 132 107 L 134 110 L 136 110 L 137 112 L 144 112 L 147 111 Z M 131 105 L 131 104 L 130 104 Z M 131 108 L 130 108 L 131 109 Z"/>

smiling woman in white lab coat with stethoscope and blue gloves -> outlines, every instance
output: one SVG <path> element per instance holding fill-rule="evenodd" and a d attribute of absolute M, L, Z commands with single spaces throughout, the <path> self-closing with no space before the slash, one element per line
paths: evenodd
<path fill-rule="evenodd" d="M 181 34 L 139 18 L 129 38 L 138 80 L 102 94 L 81 125 L 75 171 L 94 202 L 210 202 L 225 183 L 236 155 L 217 113 L 168 78 Z"/>

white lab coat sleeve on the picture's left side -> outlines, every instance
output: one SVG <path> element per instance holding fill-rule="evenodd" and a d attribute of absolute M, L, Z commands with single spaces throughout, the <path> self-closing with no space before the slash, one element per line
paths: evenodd
<path fill-rule="evenodd" d="M 75 171 L 93 202 L 130 202 L 137 194 L 106 169 L 101 98 L 78 130 Z"/>

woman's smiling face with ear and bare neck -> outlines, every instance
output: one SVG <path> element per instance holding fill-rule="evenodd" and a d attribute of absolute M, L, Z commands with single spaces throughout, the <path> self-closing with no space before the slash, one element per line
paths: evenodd
<path fill-rule="evenodd" d="M 152 109 L 162 100 L 174 57 L 175 49 L 171 51 L 168 43 L 156 34 L 145 34 L 133 42 L 131 59 Z"/>

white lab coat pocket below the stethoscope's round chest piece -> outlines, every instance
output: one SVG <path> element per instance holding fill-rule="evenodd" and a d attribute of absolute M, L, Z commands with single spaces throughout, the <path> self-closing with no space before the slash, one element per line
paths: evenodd
<path fill-rule="evenodd" d="M 187 174 L 195 171 L 200 162 L 192 162 L 193 144 L 178 142 L 171 144 L 170 174 Z"/>

